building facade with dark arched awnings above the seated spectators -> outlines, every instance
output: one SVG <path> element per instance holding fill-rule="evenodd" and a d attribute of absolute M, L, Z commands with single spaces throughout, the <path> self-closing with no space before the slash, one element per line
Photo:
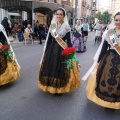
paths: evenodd
<path fill-rule="evenodd" d="M 0 22 L 4 17 L 11 21 L 18 19 L 39 21 L 40 24 L 50 24 L 52 15 L 58 7 L 64 7 L 68 18 L 73 15 L 74 0 L 0 0 Z"/>

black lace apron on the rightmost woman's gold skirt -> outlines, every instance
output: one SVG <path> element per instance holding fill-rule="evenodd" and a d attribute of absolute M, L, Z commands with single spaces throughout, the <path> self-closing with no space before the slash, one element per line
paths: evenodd
<path fill-rule="evenodd" d="M 96 75 L 96 95 L 104 101 L 120 102 L 120 55 L 109 50 L 101 60 Z"/>

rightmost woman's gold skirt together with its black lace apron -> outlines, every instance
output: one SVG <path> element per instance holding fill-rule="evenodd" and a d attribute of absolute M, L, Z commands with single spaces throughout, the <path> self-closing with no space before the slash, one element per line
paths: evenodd
<path fill-rule="evenodd" d="M 107 51 L 99 66 L 95 66 L 88 79 L 86 95 L 100 106 L 120 109 L 120 56 L 116 51 Z"/>

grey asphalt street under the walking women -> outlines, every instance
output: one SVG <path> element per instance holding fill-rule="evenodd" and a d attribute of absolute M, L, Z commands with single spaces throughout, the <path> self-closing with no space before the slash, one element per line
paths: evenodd
<path fill-rule="evenodd" d="M 61 96 L 43 92 L 37 83 L 44 44 L 11 44 L 21 66 L 21 76 L 15 82 L 0 86 L 0 120 L 120 120 L 120 110 L 105 109 L 86 98 L 87 81 Z M 77 53 L 81 77 L 92 65 L 98 46 L 90 32 L 87 51 Z"/>

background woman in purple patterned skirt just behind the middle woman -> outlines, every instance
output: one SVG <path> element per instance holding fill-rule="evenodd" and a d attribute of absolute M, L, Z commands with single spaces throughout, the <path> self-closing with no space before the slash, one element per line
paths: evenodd
<path fill-rule="evenodd" d="M 76 49 L 77 52 L 84 51 L 84 43 L 82 39 L 80 20 L 76 21 L 75 31 L 73 32 L 73 36 L 72 36 L 72 45 Z"/>

